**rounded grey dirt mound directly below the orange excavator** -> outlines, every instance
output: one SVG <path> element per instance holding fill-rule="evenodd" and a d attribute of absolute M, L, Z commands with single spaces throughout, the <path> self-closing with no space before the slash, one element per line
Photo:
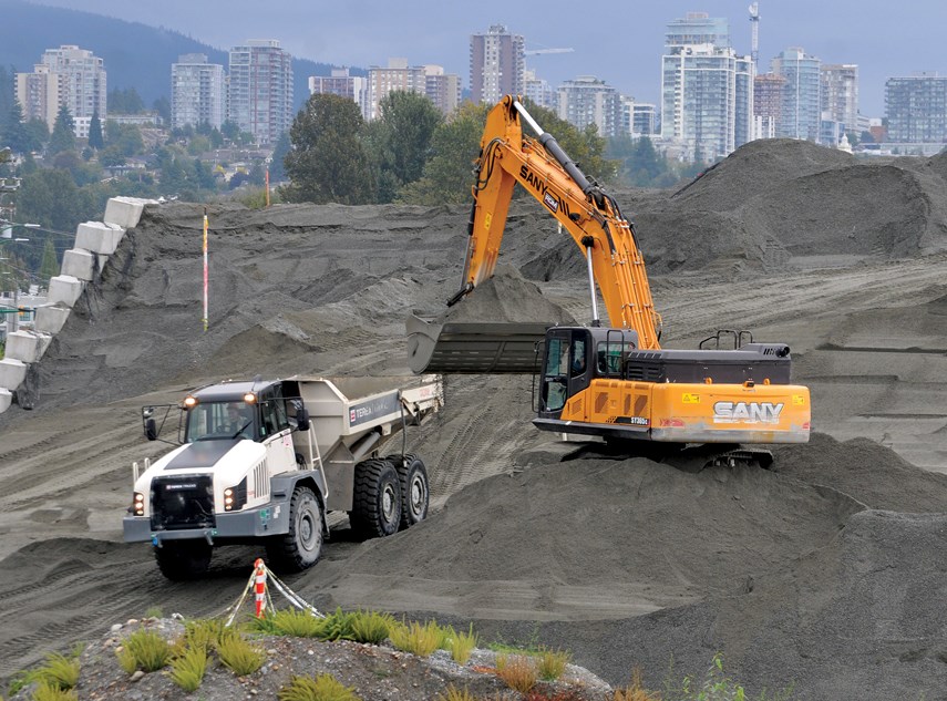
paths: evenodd
<path fill-rule="evenodd" d="M 425 585 L 413 577 L 423 571 L 425 583 L 517 581 L 537 592 L 579 588 L 599 597 L 634 585 L 666 606 L 730 591 L 822 547 L 861 508 L 756 468 L 688 474 L 646 458 L 539 464 L 482 480 L 421 527 L 367 544 L 338 583 L 320 568 L 312 592 L 332 581 L 353 605 L 347 594 L 360 587 L 351 583 L 368 575 L 420 594 Z M 481 596 L 476 606 L 485 616 L 505 605 Z M 538 597 L 518 617 L 562 615 Z"/>

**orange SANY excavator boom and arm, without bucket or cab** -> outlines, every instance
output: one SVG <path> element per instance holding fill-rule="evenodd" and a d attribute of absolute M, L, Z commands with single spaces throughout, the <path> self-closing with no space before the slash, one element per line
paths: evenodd
<path fill-rule="evenodd" d="M 523 133 L 523 121 L 535 138 Z M 449 305 L 493 276 L 513 189 L 519 183 L 585 251 L 593 326 L 599 326 L 597 282 L 609 323 L 637 331 L 641 349 L 660 348 L 660 317 L 631 225 L 615 199 L 590 182 L 511 95 L 487 115 L 475 173 L 463 285 Z"/>

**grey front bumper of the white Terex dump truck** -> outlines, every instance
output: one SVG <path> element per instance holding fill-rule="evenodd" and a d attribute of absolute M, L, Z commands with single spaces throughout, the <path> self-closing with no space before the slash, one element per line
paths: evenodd
<path fill-rule="evenodd" d="M 148 516 L 125 516 L 122 519 L 125 543 L 150 540 L 159 546 L 164 540 L 207 540 L 214 545 L 220 539 L 264 538 L 285 534 L 289 530 L 289 508 L 275 504 L 264 508 L 249 508 L 231 514 L 217 514 L 213 527 L 176 528 L 152 530 Z"/>

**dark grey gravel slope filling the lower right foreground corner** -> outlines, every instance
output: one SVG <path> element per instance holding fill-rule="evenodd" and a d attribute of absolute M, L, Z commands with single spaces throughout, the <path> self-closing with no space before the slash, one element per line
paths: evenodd
<path fill-rule="evenodd" d="M 671 660 L 681 673 L 700 671 L 725 650 L 748 697 L 793 685 L 799 699 L 937 698 L 947 683 L 947 589 L 931 554 L 944 550 L 945 533 L 944 514 L 854 514 L 834 543 L 744 594 L 601 622 L 597 645 L 576 661 L 598 659 L 597 672 L 614 679 L 627 678 L 631 659 L 657 688 Z M 538 635 L 565 629 L 546 623 Z M 595 635 L 588 623 L 572 630 Z"/>

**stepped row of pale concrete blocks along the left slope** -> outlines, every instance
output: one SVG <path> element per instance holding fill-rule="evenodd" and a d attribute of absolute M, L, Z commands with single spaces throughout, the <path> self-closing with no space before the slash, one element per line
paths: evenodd
<path fill-rule="evenodd" d="M 86 282 L 102 274 L 109 256 L 115 252 L 126 229 L 134 228 L 152 199 L 113 197 L 105 205 L 103 221 L 85 221 L 75 229 L 75 248 L 65 251 L 62 275 L 50 280 L 49 303 L 37 309 L 34 330 L 16 331 L 7 337 L 7 350 L 0 360 L 0 414 L 10 409 L 31 363 L 40 362 L 53 336 L 69 319 L 75 302 L 85 292 Z"/>

